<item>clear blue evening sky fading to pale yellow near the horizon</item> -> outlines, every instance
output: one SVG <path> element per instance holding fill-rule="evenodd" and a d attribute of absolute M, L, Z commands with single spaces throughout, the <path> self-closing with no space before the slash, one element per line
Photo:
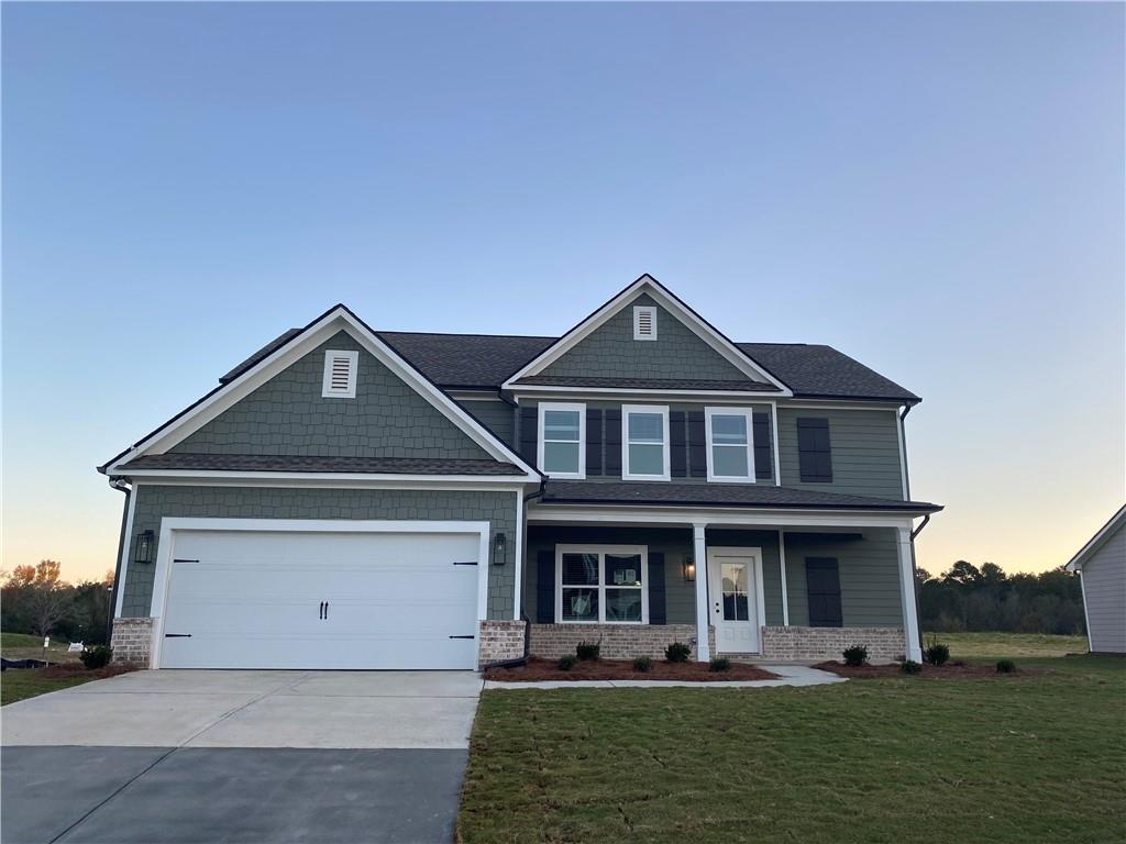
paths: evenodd
<path fill-rule="evenodd" d="M 919 565 L 1124 491 L 1123 5 L 2 7 L 3 557 L 114 565 L 95 466 L 337 302 L 557 334 L 651 272 L 923 397 Z"/>

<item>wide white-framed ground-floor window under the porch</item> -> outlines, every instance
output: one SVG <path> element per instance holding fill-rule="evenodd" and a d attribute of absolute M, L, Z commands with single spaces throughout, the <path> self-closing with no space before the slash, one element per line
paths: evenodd
<path fill-rule="evenodd" d="M 645 546 L 555 546 L 557 622 L 647 625 Z"/>

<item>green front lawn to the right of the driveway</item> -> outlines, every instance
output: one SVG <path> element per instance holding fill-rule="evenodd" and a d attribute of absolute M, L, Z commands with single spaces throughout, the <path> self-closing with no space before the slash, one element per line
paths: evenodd
<path fill-rule="evenodd" d="M 461 841 L 1123 841 L 1126 659 L 1018 665 L 1052 673 L 485 692 Z"/>

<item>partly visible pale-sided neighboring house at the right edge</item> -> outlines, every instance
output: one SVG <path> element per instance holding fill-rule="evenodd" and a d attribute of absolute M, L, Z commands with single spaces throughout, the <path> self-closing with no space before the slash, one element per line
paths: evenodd
<path fill-rule="evenodd" d="M 1079 572 L 1092 654 L 1126 654 L 1126 506 L 1067 564 Z"/>

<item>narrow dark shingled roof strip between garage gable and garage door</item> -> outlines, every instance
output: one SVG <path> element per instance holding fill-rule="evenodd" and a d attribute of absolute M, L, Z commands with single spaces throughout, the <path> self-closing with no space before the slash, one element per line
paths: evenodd
<path fill-rule="evenodd" d="M 135 469 L 198 469 L 206 472 L 332 472 L 367 475 L 516 475 L 510 463 L 421 457 L 313 457 L 293 455 L 196 455 L 170 451 L 144 455 L 120 467 Z"/>

